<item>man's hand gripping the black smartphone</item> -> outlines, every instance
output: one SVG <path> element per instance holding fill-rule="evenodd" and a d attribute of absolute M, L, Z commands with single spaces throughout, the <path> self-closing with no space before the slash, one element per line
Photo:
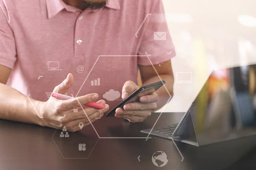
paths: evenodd
<path fill-rule="evenodd" d="M 136 91 L 137 86 L 132 81 L 125 82 L 122 88 L 122 99 L 126 99 L 130 94 Z M 123 108 L 117 108 L 115 116 L 127 119 L 129 122 L 143 122 L 151 112 L 157 108 L 158 95 L 156 93 L 146 94 L 143 92 L 138 95 L 139 101 L 125 104 Z"/>

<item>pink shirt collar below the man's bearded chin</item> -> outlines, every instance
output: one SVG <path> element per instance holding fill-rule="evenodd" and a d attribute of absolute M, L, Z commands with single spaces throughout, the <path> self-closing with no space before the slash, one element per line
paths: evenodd
<path fill-rule="evenodd" d="M 58 14 L 64 8 L 67 11 L 71 11 L 71 12 L 81 11 L 80 9 L 77 9 L 73 6 L 68 6 L 62 0 L 46 0 L 46 6 L 47 6 L 47 12 L 48 12 L 49 19 L 54 17 L 56 14 Z M 108 0 L 106 7 L 112 8 L 112 9 L 120 9 L 120 4 L 119 4 L 118 0 Z"/>

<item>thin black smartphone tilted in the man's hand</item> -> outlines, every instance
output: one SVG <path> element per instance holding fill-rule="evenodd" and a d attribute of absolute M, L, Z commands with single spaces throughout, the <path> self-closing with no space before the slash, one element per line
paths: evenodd
<path fill-rule="evenodd" d="M 166 81 L 155 82 L 150 85 L 144 85 L 134 91 L 130 96 L 128 96 L 124 101 L 119 103 L 115 108 L 113 108 L 110 112 L 107 113 L 107 117 L 111 118 L 115 116 L 117 108 L 123 108 L 127 103 L 139 102 L 141 96 L 150 95 L 156 92 L 159 88 L 161 88 Z"/>

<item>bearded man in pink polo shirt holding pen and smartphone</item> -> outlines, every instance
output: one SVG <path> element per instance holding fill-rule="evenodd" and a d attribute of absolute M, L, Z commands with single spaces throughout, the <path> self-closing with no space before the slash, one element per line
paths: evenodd
<path fill-rule="evenodd" d="M 0 7 L 1 119 L 77 131 L 121 100 L 104 94 L 125 99 L 138 88 L 138 69 L 143 85 L 160 81 L 158 73 L 168 92 L 118 108 L 117 118 L 142 122 L 173 94 L 175 49 L 161 0 L 0 0 Z M 76 98 L 49 97 L 52 89 Z M 92 101 L 104 109 L 81 109 Z"/>

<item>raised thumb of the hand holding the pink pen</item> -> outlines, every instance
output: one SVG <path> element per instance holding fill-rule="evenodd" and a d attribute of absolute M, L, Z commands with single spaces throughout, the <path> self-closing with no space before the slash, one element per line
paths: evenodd
<path fill-rule="evenodd" d="M 67 93 L 68 89 L 73 85 L 74 83 L 74 78 L 72 74 L 68 74 L 67 78 L 64 79 L 64 81 L 56 86 L 53 90 L 53 92 L 55 93 L 59 93 L 59 94 L 65 94 Z"/>

